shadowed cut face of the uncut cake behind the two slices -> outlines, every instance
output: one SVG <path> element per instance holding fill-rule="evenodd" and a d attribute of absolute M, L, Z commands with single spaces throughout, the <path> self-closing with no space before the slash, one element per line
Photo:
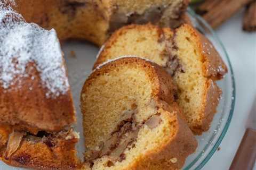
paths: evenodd
<path fill-rule="evenodd" d="M 117 0 L 113 13 L 109 16 L 108 34 L 131 23 L 153 23 L 174 28 L 180 19 L 180 14 L 187 6 L 183 0 L 176 1 L 122 1 Z"/>

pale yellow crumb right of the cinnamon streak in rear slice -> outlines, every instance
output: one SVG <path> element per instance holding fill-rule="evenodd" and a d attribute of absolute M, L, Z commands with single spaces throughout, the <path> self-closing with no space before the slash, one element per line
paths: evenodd
<path fill-rule="evenodd" d="M 174 42 L 178 50 L 172 50 L 172 55 L 178 56 L 184 68 L 184 72 L 174 76 L 179 89 L 178 103 L 186 115 L 190 128 L 195 128 L 196 125 L 202 123 L 203 111 L 201 109 L 208 79 L 204 77 L 202 69 L 203 56 L 201 56 L 201 49 L 198 48 L 193 33 L 186 29 L 177 29 Z"/>

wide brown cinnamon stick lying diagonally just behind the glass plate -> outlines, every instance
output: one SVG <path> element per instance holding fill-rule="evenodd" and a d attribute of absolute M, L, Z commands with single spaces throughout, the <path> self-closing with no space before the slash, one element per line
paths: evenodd
<path fill-rule="evenodd" d="M 198 7 L 197 12 L 203 13 L 203 18 L 213 27 L 229 19 L 240 8 L 252 0 L 207 0 Z"/>

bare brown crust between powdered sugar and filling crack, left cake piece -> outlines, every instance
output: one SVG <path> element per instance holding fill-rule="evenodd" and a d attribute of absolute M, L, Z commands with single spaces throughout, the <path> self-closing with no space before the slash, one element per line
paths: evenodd
<path fill-rule="evenodd" d="M 47 97 L 47 89 L 42 87 L 40 75 L 33 65 L 27 66 L 31 69 L 29 76 L 20 79 L 21 88 L 15 83 L 8 90 L 0 87 L 0 123 L 34 134 L 38 131 L 58 132 L 75 123 L 70 89 L 66 94 Z"/>

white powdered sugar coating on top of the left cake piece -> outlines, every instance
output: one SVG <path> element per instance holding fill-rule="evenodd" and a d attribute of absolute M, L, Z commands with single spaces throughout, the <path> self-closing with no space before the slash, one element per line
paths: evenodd
<path fill-rule="evenodd" d="M 55 30 L 26 23 L 6 0 L 0 2 L 0 47 L 0 85 L 4 89 L 28 77 L 28 63 L 35 64 L 42 86 L 48 89 L 47 97 L 65 94 L 69 89 Z"/>

